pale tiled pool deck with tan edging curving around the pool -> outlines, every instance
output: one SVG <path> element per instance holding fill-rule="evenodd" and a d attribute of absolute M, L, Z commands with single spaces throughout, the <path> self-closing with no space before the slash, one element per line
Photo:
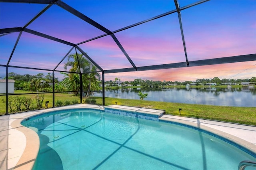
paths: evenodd
<path fill-rule="evenodd" d="M 39 149 L 39 138 L 36 132 L 20 125 L 20 122 L 24 118 L 48 111 L 84 107 L 104 110 L 104 107 L 102 106 L 78 104 L 0 116 L 0 170 L 28 170 L 31 169 L 34 164 Z M 252 150 L 253 152 L 256 152 L 255 126 L 238 125 L 233 123 L 224 123 L 218 121 L 209 121 L 204 119 L 195 119 L 172 115 L 162 115 L 163 111 L 155 109 L 127 107 L 120 105 L 110 105 L 106 106 L 105 108 L 108 109 L 108 111 L 120 109 L 128 112 L 136 112 L 138 113 L 138 117 L 144 117 L 144 113 L 150 113 L 154 116 L 160 116 L 159 120 L 162 121 L 182 123 L 193 127 L 201 128 L 209 132 L 213 132 L 227 139 L 230 139 Z M 122 112 L 118 112 L 115 114 L 122 114 Z"/>

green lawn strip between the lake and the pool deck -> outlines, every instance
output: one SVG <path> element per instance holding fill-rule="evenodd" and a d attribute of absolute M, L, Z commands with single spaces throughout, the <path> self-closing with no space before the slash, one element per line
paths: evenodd
<path fill-rule="evenodd" d="M 90 97 L 102 103 L 101 97 Z M 166 114 L 225 121 L 256 126 L 256 107 L 229 107 L 213 105 L 196 105 L 182 103 L 168 103 L 158 101 L 142 101 L 133 99 L 105 98 L 105 105 L 125 105 L 165 110 Z M 179 109 L 182 109 L 179 112 Z"/>

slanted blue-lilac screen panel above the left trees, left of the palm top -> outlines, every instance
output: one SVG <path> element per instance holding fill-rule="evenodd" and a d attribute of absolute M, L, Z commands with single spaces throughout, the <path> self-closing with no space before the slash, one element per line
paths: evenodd
<path fill-rule="evenodd" d="M 69 45 L 23 32 L 10 65 L 54 69 L 69 50 Z"/>

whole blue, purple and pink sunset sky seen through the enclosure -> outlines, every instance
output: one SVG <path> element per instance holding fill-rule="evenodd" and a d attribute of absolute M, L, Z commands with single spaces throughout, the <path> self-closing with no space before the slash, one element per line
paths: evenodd
<path fill-rule="evenodd" d="M 175 10 L 173 0 L 62 0 L 82 14 L 114 32 L 126 26 Z M 180 7 L 197 0 L 179 0 Z M 0 28 L 26 25 L 45 4 L 0 2 Z M 256 1 L 210 0 L 181 11 L 188 61 L 256 53 Z M 28 29 L 80 43 L 105 34 L 57 5 L 32 22 Z M 19 32 L 0 36 L 0 65 L 6 65 Z M 185 62 L 177 13 L 114 34 L 136 67 Z M 78 45 L 102 69 L 132 67 L 111 36 Z M 9 65 L 64 71 L 65 58 L 72 47 L 22 32 Z M 70 53 L 75 53 L 73 49 Z M 0 77 L 6 69 L 0 67 Z M 42 71 L 9 68 L 18 74 Z M 48 72 L 48 71 L 45 71 Z M 47 74 L 47 73 L 45 73 Z M 56 74 L 60 76 L 61 74 Z M 256 61 L 184 67 L 152 71 L 105 74 L 105 81 L 134 79 L 196 81 L 246 79 L 256 77 Z"/>

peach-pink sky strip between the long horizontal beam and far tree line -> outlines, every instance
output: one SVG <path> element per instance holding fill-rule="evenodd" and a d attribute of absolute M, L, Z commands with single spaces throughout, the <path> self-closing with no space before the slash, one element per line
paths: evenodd
<path fill-rule="evenodd" d="M 177 69 L 162 69 L 151 71 L 134 71 L 127 73 L 106 74 L 106 80 L 133 81 L 134 79 L 166 80 L 166 81 L 196 81 L 196 79 L 246 79 L 256 77 L 256 61 L 206 65 L 198 67 L 183 67 Z"/>

